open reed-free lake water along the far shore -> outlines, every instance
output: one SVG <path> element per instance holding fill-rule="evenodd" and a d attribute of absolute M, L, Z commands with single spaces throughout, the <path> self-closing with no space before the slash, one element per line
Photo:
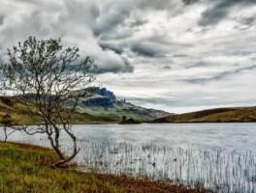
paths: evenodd
<path fill-rule="evenodd" d="M 193 146 L 256 155 L 256 124 L 82 124 L 74 125 L 79 139 L 108 143 Z M 14 141 L 29 141 L 44 135 L 16 132 Z M 45 145 L 45 144 L 44 144 Z"/>

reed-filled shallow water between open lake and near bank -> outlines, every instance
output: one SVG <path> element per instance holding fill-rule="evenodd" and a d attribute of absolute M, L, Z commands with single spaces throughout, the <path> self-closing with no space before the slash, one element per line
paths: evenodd
<path fill-rule="evenodd" d="M 48 144 L 44 138 L 26 142 Z M 70 146 L 66 142 L 62 148 L 69 152 Z M 251 152 L 240 154 L 153 143 L 105 143 L 84 139 L 79 141 L 79 146 L 76 162 L 84 172 L 170 181 L 223 193 L 256 191 L 256 163 Z"/>

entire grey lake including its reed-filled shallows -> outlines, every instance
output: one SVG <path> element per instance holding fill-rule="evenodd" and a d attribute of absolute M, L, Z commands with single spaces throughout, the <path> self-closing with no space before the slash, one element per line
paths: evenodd
<path fill-rule="evenodd" d="M 256 124 L 74 125 L 80 170 L 181 182 L 216 192 L 256 190 Z M 42 136 L 10 140 L 48 146 Z M 69 152 L 65 137 L 63 150 Z"/>

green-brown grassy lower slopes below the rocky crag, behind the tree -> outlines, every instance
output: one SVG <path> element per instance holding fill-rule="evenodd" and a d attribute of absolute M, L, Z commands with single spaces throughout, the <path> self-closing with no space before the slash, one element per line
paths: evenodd
<path fill-rule="evenodd" d="M 10 100 L 10 101 L 8 101 Z M 36 107 L 31 103 L 34 111 Z M 148 110 L 132 105 L 131 103 L 114 103 L 112 108 L 103 107 L 78 107 L 78 113 L 74 115 L 73 124 L 90 123 L 119 123 L 122 116 L 133 118 L 138 121 L 150 121 Z M 43 122 L 40 118 L 31 118 L 25 104 L 11 97 L 0 96 L 0 122 L 7 113 L 11 114 L 12 121 L 15 124 L 40 124 Z"/>

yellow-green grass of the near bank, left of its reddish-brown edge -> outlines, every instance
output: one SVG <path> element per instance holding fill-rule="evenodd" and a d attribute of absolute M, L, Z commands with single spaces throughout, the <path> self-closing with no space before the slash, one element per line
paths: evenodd
<path fill-rule="evenodd" d="M 54 159 L 50 150 L 1 143 L 0 192 L 125 192 L 111 180 L 49 168 Z"/>

